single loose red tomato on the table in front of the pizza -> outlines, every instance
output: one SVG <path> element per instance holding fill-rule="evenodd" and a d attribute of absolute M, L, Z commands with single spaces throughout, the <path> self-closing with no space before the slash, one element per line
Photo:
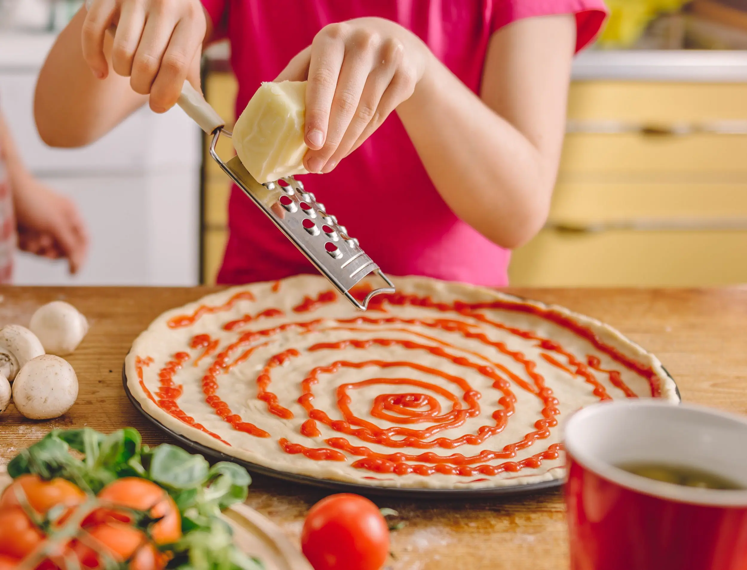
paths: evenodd
<path fill-rule="evenodd" d="M 309 510 L 301 548 L 314 570 L 379 570 L 389 553 L 389 527 L 367 498 L 331 495 Z"/>

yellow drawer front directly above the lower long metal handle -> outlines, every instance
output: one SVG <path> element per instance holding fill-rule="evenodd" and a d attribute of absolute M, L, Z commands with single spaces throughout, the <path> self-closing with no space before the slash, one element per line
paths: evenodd
<path fill-rule="evenodd" d="M 734 219 L 747 221 L 744 184 L 584 184 L 555 188 L 551 222 L 619 219 Z"/>

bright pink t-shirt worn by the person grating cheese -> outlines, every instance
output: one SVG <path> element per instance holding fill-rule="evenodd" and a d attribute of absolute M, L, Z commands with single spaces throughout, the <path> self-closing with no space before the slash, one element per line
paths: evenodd
<path fill-rule="evenodd" d="M 202 0 L 215 37 L 231 41 L 237 116 L 325 25 L 380 16 L 418 34 L 477 93 L 491 34 L 531 16 L 574 13 L 577 49 L 604 21 L 602 0 Z M 326 175 L 299 177 L 391 275 L 504 286 L 510 253 L 458 219 L 438 195 L 396 113 Z M 223 284 L 316 270 L 249 198 L 234 188 Z"/>

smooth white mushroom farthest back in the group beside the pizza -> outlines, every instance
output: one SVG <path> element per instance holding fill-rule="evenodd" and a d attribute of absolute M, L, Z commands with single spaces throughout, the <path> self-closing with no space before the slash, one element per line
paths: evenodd
<path fill-rule="evenodd" d="M 39 307 L 28 326 L 50 354 L 70 354 L 88 332 L 88 321 L 65 301 L 52 301 Z"/>

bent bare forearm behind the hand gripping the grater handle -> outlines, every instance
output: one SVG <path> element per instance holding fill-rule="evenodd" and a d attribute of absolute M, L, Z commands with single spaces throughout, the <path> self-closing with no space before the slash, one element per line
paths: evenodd
<path fill-rule="evenodd" d="M 108 74 L 97 79 L 81 48 L 81 8 L 59 35 L 40 72 L 34 97 L 34 116 L 42 140 L 51 146 L 75 147 L 93 143 L 147 101 L 134 93 L 129 78 Z M 111 37 L 105 54 L 111 60 Z"/>

